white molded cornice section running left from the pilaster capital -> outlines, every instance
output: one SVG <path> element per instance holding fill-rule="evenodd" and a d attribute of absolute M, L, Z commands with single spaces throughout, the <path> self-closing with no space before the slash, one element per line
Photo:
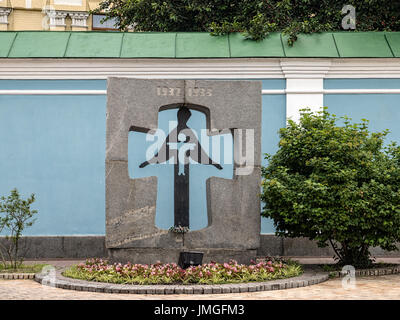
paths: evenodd
<path fill-rule="evenodd" d="M 0 79 L 106 79 L 110 76 L 149 79 L 284 78 L 279 59 L 0 59 Z"/>

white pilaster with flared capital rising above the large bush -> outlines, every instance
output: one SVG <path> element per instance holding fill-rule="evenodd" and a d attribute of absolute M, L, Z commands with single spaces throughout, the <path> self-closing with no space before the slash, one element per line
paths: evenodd
<path fill-rule="evenodd" d="M 324 78 L 329 71 L 327 61 L 281 61 L 286 78 L 286 119 L 298 122 L 300 110 L 320 111 L 324 104 Z"/>

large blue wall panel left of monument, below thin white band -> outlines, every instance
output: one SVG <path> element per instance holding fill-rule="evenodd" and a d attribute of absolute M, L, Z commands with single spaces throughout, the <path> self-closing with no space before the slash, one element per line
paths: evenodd
<path fill-rule="evenodd" d="M 105 107 L 105 96 L 0 96 L 0 194 L 37 196 L 25 234 L 104 234 Z"/>

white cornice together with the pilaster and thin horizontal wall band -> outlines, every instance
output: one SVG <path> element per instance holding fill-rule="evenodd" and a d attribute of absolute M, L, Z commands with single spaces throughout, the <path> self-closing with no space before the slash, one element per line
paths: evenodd
<path fill-rule="evenodd" d="M 400 94 L 400 89 L 324 89 L 325 78 L 400 78 L 391 59 L 0 59 L 0 79 L 286 79 L 286 117 L 321 110 L 324 94 Z M 0 95 L 104 95 L 106 90 L 1 90 Z"/>

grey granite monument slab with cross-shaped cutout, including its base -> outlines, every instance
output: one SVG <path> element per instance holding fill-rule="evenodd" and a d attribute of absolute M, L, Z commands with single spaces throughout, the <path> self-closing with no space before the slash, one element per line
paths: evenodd
<path fill-rule="evenodd" d="M 234 258 L 248 263 L 254 258 L 261 220 L 261 82 L 110 78 L 107 99 L 106 247 L 110 258 L 178 262 L 183 250 L 204 252 L 205 262 Z M 207 180 L 208 226 L 185 234 L 184 247 L 180 235 L 155 226 L 157 178 L 130 179 L 128 175 L 129 131 L 157 129 L 160 110 L 181 106 L 204 112 L 211 132 L 235 132 L 233 179 Z M 242 147 L 249 156 L 246 161 L 241 159 Z"/>

